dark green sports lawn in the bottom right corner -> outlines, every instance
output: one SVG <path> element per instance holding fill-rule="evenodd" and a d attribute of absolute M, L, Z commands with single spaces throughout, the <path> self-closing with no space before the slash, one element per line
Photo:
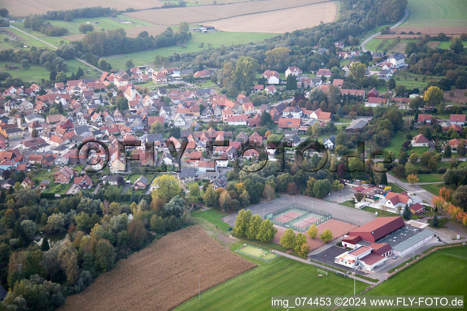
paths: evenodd
<path fill-rule="evenodd" d="M 368 290 L 368 292 L 364 293 L 361 297 L 376 295 L 466 296 L 467 288 L 464 286 L 465 277 L 463 277 L 464 274 L 461 271 L 467 270 L 467 260 L 448 256 L 446 254 L 466 257 L 466 246 L 446 248 L 433 252 L 418 260 L 416 263 L 411 264 L 404 270 L 396 273 L 394 276 L 377 285 L 375 288 Z M 442 270 L 442 272 L 440 270 Z M 346 309 L 367 310 L 352 308 Z"/>

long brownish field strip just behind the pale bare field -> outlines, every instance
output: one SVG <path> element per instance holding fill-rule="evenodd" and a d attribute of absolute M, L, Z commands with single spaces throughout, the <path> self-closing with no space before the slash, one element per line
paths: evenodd
<path fill-rule="evenodd" d="M 301 7 L 312 3 L 321 2 L 322 0 L 268 0 L 268 1 L 248 1 L 240 3 L 232 3 L 226 5 L 210 5 L 210 6 L 194 6 L 194 7 L 174 7 L 167 9 L 144 10 L 139 12 L 125 13 L 124 15 L 131 16 L 143 21 L 157 23 L 158 25 L 177 25 L 181 21 L 189 23 L 201 21 L 217 21 L 234 16 L 257 14 L 261 12 L 270 12 L 274 10 L 283 10 L 291 7 Z M 335 11 L 335 10 L 334 10 Z M 157 16 L 157 18 L 155 18 Z M 280 19 L 284 15 L 280 15 Z M 309 15 L 310 16 L 310 15 Z M 306 18 L 308 19 L 309 16 Z M 295 17 L 290 17 L 287 21 L 298 20 Z M 269 21 L 268 21 L 269 22 Z M 278 20 L 276 19 L 276 22 Z M 302 21 L 304 22 L 304 21 Z M 273 25 L 274 23 L 270 23 Z M 252 32 L 251 30 L 247 30 Z"/>

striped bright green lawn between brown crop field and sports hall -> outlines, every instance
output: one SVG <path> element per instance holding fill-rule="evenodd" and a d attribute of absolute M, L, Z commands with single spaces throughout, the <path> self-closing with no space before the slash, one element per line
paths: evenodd
<path fill-rule="evenodd" d="M 248 258 L 248 257 L 247 257 Z M 193 297 L 175 310 L 268 310 L 271 295 L 352 295 L 354 280 L 328 273 L 318 276 L 316 266 L 279 257 Z M 368 284 L 356 282 L 357 292 Z M 312 289 L 312 293 L 310 292 Z"/>

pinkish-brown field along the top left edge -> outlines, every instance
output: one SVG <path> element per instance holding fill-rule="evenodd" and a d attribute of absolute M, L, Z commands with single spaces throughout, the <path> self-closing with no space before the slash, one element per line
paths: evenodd
<path fill-rule="evenodd" d="M 74 1 L 61 0 L 10 0 L 2 1 L 2 7 L 7 8 L 11 16 L 27 16 L 29 14 L 45 14 L 47 11 L 68 10 L 77 7 L 115 7 L 118 10 L 125 10 L 127 7 L 134 9 L 147 9 L 150 7 L 162 7 L 163 2 L 151 0 L 134 0 L 131 4 L 125 0 L 104 0 L 92 1 L 84 0 L 78 4 Z"/>

